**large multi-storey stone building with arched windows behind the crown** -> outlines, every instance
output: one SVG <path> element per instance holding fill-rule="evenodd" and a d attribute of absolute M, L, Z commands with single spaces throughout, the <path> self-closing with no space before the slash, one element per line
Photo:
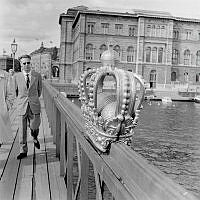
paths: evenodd
<path fill-rule="evenodd" d="M 85 6 L 69 8 L 59 18 L 60 79 L 77 82 L 81 73 L 101 65 L 108 46 L 118 67 L 159 84 L 200 84 L 200 20 L 170 13 L 133 10 L 109 12 Z"/>

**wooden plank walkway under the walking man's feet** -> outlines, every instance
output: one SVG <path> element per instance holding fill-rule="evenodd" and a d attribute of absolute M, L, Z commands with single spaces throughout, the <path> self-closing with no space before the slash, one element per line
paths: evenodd
<path fill-rule="evenodd" d="M 0 200 L 63 200 L 67 199 L 64 178 L 60 177 L 60 163 L 44 102 L 39 141 L 41 148 L 35 149 L 32 137 L 28 138 L 28 156 L 17 160 L 19 154 L 18 118 L 11 113 L 13 141 L 0 148 Z"/>

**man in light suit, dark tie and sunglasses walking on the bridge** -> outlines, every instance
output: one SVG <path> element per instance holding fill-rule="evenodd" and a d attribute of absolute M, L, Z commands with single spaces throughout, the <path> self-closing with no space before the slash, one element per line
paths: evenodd
<path fill-rule="evenodd" d="M 38 141 L 39 126 L 40 126 L 40 101 L 39 97 L 42 92 L 41 75 L 34 70 L 31 70 L 31 57 L 23 55 L 19 58 L 22 71 L 16 73 L 13 77 L 13 91 L 18 91 L 15 94 L 15 105 L 19 113 L 19 142 L 20 154 L 17 159 L 27 157 L 27 125 L 31 129 L 31 136 L 36 148 L 40 149 Z"/>

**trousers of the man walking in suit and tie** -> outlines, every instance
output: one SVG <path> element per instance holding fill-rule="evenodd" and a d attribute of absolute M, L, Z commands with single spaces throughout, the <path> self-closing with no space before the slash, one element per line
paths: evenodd
<path fill-rule="evenodd" d="M 33 114 L 31 108 L 28 104 L 26 113 L 19 116 L 19 144 L 20 144 L 20 153 L 28 152 L 27 145 L 27 128 L 31 129 L 31 136 L 37 138 L 39 134 L 40 126 L 40 113 Z"/>

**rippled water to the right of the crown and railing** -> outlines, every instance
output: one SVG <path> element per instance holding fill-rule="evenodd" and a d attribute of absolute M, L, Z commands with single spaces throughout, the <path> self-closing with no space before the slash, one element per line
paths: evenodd
<path fill-rule="evenodd" d="M 144 102 L 133 149 L 200 198 L 200 104 Z"/>

